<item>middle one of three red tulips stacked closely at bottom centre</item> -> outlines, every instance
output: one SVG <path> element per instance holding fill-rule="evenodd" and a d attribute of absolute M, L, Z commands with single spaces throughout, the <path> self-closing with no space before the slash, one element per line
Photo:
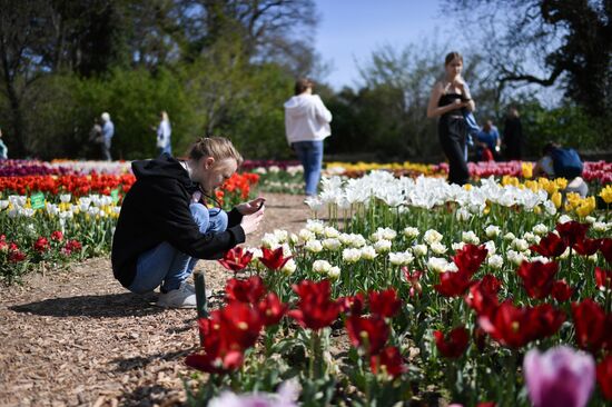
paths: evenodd
<path fill-rule="evenodd" d="M 354 347 L 367 347 L 368 355 L 376 355 L 388 339 L 389 328 L 379 316 L 352 316 L 346 319 L 346 330 Z"/>

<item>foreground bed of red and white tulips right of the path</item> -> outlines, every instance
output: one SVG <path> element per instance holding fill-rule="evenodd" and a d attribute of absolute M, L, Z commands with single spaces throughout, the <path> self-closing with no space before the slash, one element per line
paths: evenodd
<path fill-rule="evenodd" d="M 326 180 L 308 202 L 327 224 L 221 260 L 235 276 L 199 320 L 190 399 L 605 405 L 610 212 L 562 200 L 564 180 L 516 182 Z"/>

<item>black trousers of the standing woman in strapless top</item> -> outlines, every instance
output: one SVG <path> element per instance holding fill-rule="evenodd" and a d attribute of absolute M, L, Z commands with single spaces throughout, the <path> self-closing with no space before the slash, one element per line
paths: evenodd
<path fill-rule="evenodd" d="M 467 126 L 463 118 L 443 116 L 437 126 L 442 150 L 448 159 L 448 182 L 464 185 L 470 179 L 465 162 L 465 138 Z"/>

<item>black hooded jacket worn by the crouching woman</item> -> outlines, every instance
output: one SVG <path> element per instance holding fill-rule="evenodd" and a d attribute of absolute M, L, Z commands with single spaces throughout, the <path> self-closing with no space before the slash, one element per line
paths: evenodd
<path fill-rule="evenodd" d="M 233 209 L 227 230 L 203 235 L 191 218 L 189 204 L 197 187 L 185 168 L 167 155 L 134 161 L 136 182 L 126 195 L 112 238 L 112 274 L 124 287 L 136 276 L 136 262 L 162 241 L 200 259 L 217 259 L 245 241 L 243 216 Z"/>

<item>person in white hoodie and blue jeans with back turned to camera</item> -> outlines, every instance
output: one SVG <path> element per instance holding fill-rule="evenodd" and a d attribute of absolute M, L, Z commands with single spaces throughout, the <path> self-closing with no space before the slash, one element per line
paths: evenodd
<path fill-rule="evenodd" d="M 306 195 L 317 193 L 323 162 L 323 140 L 332 135 L 332 113 L 318 95 L 313 95 L 313 82 L 298 79 L 295 96 L 285 102 L 285 130 L 287 141 L 295 150 L 302 166 Z"/>

